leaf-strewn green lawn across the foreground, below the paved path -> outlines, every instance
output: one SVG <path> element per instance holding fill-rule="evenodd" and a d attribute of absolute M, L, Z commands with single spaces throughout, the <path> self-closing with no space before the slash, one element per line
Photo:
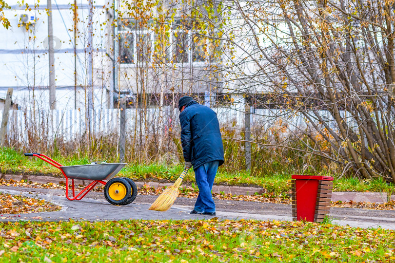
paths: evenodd
<path fill-rule="evenodd" d="M 0 224 L 2 262 L 394 262 L 395 231 L 304 222 Z"/>

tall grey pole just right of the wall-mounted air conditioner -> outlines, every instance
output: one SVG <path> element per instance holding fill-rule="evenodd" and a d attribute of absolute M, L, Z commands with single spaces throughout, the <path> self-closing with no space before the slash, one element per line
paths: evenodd
<path fill-rule="evenodd" d="M 52 3 L 47 0 L 48 8 L 48 55 L 49 55 L 49 107 L 56 109 L 56 87 L 55 87 L 55 55 L 54 55 L 54 33 L 52 28 Z"/>

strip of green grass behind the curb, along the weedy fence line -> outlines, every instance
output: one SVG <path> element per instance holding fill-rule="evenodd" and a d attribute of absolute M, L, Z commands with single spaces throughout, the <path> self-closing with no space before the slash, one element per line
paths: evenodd
<path fill-rule="evenodd" d="M 115 162 L 116 160 L 97 160 L 89 156 L 53 156 L 53 158 L 63 165 L 90 164 L 93 161 Z M 183 170 L 182 165 L 165 166 L 160 164 L 129 164 L 119 172 L 119 176 L 130 177 L 135 180 L 159 180 L 174 182 Z M 61 173 L 55 167 L 41 161 L 38 158 L 25 157 L 22 152 L 10 148 L 0 149 L 0 171 L 1 173 L 39 173 L 55 174 Z M 394 184 L 387 184 L 382 179 L 359 180 L 357 178 L 336 179 L 334 175 L 335 191 L 369 191 L 395 193 Z M 184 178 L 187 182 L 195 182 L 192 171 Z M 254 176 L 247 171 L 235 171 L 234 173 L 218 169 L 215 179 L 216 184 L 226 185 L 254 185 L 265 188 L 267 192 L 274 194 L 288 192 L 291 189 L 291 174 L 281 173 L 270 176 Z"/>

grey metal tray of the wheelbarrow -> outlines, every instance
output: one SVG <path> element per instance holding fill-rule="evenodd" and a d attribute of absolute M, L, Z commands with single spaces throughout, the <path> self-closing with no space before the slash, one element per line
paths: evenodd
<path fill-rule="evenodd" d="M 60 169 L 70 179 L 95 181 L 113 178 L 125 165 L 124 163 L 94 163 L 89 165 L 61 166 Z"/>

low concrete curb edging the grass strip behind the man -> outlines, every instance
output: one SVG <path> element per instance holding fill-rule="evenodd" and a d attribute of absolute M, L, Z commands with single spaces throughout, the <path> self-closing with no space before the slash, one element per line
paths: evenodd
<path fill-rule="evenodd" d="M 14 180 L 14 181 L 32 181 L 40 184 L 46 183 L 56 183 L 66 182 L 65 178 L 58 178 L 52 176 L 41 176 L 41 175 L 14 175 L 14 174 L 3 174 L 0 177 L 5 180 Z M 74 180 L 77 185 L 88 185 L 90 181 L 84 180 Z M 144 184 L 154 187 L 161 188 L 165 186 L 172 186 L 173 183 L 159 183 L 159 182 L 135 182 L 138 188 L 144 186 Z M 222 186 L 222 185 L 214 185 L 213 192 L 219 193 L 224 192 L 225 194 L 233 194 L 233 195 L 254 195 L 256 192 L 261 191 L 262 188 L 257 187 L 239 187 L 239 186 Z M 395 195 L 391 196 L 391 200 L 395 201 Z M 369 203 L 386 203 L 387 202 L 387 193 L 379 193 L 379 192 L 333 192 L 332 193 L 332 201 L 342 201 L 342 202 L 369 202 Z"/>

